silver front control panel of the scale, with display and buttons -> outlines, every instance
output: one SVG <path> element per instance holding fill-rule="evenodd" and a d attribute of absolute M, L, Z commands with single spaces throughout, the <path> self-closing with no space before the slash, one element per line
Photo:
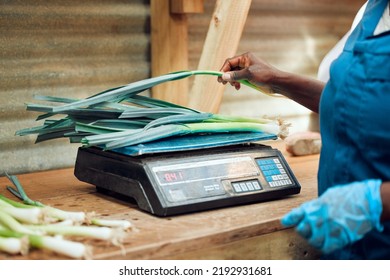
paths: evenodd
<path fill-rule="evenodd" d="M 295 183 L 280 156 L 223 155 L 217 159 L 151 164 L 151 174 L 168 203 L 244 196 L 288 188 Z"/>

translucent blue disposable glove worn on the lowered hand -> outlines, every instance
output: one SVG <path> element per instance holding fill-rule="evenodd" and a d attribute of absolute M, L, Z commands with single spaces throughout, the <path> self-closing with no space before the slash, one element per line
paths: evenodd
<path fill-rule="evenodd" d="M 319 198 L 293 209 L 282 218 L 315 248 L 331 253 L 361 239 L 380 224 L 381 180 L 366 180 L 328 189 Z"/>

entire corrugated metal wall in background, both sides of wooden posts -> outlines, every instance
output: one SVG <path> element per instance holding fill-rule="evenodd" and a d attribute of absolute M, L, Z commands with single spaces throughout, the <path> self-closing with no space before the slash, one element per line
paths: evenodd
<path fill-rule="evenodd" d="M 168 1 L 168 0 L 161 0 Z M 240 0 L 241 1 L 241 0 Z M 315 75 L 349 29 L 362 0 L 253 0 L 238 53 L 253 51 L 287 71 Z M 189 15 L 195 69 L 215 0 Z M 77 144 L 34 144 L 16 130 L 38 125 L 24 103 L 34 94 L 85 97 L 150 75 L 149 1 L 0 0 L 0 174 L 73 166 Z M 216 50 L 217 51 L 217 50 Z M 221 112 L 307 114 L 288 100 L 227 87 Z"/>

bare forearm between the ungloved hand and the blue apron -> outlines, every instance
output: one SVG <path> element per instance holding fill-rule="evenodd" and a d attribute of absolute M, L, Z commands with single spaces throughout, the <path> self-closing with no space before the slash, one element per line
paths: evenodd
<path fill-rule="evenodd" d="M 271 87 L 275 93 L 294 100 L 318 113 L 322 90 L 325 83 L 309 77 L 279 71 L 272 78 Z"/>

